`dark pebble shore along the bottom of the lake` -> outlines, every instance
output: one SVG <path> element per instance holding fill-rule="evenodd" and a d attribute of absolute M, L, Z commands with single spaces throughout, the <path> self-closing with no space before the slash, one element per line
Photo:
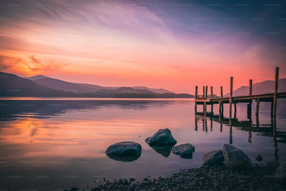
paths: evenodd
<path fill-rule="evenodd" d="M 155 190 L 286 190 L 281 184 L 275 170 L 279 163 L 268 162 L 265 166 L 255 164 L 249 170 L 230 170 L 224 165 L 201 166 L 200 168 L 183 169 L 170 177 L 159 177 L 149 180 L 148 176 L 142 181 L 135 179 L 116 179 L 95 181 L 96 185 L 86 188 L 72 187 L 70 190 L 126 190 L 126 191 L 155 191 Z"/>

